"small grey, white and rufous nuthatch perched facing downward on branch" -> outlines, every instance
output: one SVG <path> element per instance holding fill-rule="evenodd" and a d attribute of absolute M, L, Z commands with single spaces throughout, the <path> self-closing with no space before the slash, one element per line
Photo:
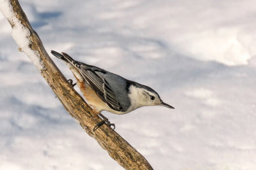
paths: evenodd
<path fill-rule="evenodd" d="M 111 73 L 105 69 L 91 66 L 72 59 L 67 53 L 58 53 L 51 50 L 52 55 L 63 60 L 74 74 L 77 83 L 89 106 L 102 121 L 95 125 L 93 131 L 102 124 L 110 124 L 108 118 L 101 114 L 101 111 L 108 111 L 117 115 L 129 113 L 142 106 L 164 106 L 174 109 L 173 106 L 163 102 L 159 94 L 152 88 L 127 80 L 118 74 Z"/>

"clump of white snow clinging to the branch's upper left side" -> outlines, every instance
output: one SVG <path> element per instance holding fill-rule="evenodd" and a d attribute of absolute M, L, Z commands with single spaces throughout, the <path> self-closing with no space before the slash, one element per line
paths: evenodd
<path fill-rule="evenodd" d="M 24 25 L 22 25 L 20 20 L 16 17 L 9 0 L 0 1 L 0 11 L 13 25 L 12 38 L 15 40 L 22 52 L 28 55 L 33 64 L 35 64 L 36 68 L 42 70 L 44 68 L 44 64 L 40 59 L 39 53 L 35 52 L 29 47 L 31 45 L 29 29 L 24 27 Z"/>

